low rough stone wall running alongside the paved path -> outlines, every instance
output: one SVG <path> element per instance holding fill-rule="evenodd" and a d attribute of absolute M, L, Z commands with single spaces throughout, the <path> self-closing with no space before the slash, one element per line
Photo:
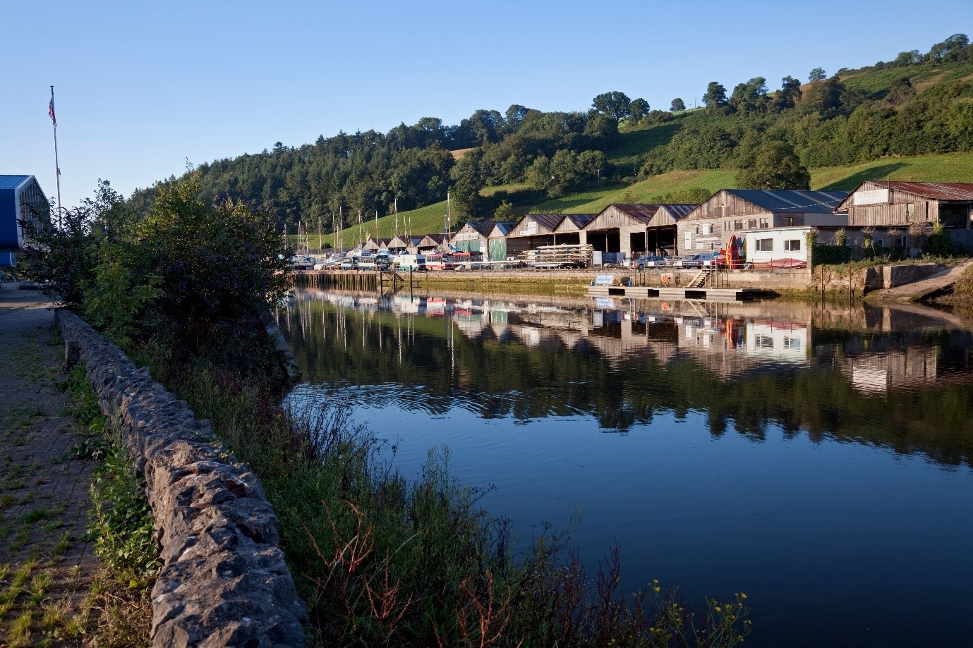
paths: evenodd
<path fill-rule="evenodd" d="M 153 646 L 304 645 L 306 609 L 256 476 L 115 344 L 67 310 L 57 322 L 145 475 L 162 548 Z"/>

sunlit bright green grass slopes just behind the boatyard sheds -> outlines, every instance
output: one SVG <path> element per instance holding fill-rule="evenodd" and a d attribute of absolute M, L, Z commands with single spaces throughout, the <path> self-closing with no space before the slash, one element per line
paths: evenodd
<path fill-rule="evenodd" d="M 655 130 L 655 129 L 653 129 Z M 643 135 L 653 130 L 637 130 L 629 135 Z M 634 140 L 632 140 L 634 141 Z M 635 145 L 632 144 L 632 147 Z M 539 213 L 562 212 L 567 214 L 596 214 L 612 203 L 621 202 L 659 202 L 672 192 L 701 188 L 710 193 L 720 189 L 735 187 L 737 171 L 733 169 L 709 169 L 702 171 L 670 171 L 656 175 L 633 185 L 615 183 L 572 194 L 563 198 L 545 200 L 536 204 L 533 211 Z M 918 158 L 886 158 L 855 166 L 828 166 L 811 169 L 811 189 L 850 191 L 864 180 L 917 180 L 927 182 L 973 182 L 973 153 L 950 153 Z M 488 187 L 483 193 L 490 196 L 498 191 L 507 191 L 516 196 L 523 191 L 523 185 Z M 412 211 L 399 214 L 399 234 L 405 234 L 407 224 L 413 234 L 428 234 L 443 231 L 443 216 L 446 214 L 446 201 L 436 202 Z M 456 216 L 454 214 L 453 223 Z M 455 229 L 455 228 L 454 228 Z M 378 238 L 391 237 L 395 230 L 395 216 L 378 219 Z M 375 237 L 376 222 L 362 224 L 364 236 Z M 291 236 L 291 244 L 297 242 Z M 345 247 L 358 241 L 358 227 L 344 231 Z M 334 244 L 331 234 L 323 236 L 325 244 Z M 317 236 L 310 236 L 310 246 L 317 247 Z"/>

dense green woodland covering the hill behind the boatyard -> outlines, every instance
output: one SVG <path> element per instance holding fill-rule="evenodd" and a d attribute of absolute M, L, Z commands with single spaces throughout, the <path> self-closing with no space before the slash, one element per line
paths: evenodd
<path fill-rule="evenodd" d="M 243 198 L 270 208 L 277 227 L 304 221 L 325 232 L 431 204 L 450 192 L 454 213 L 486 217 L 508 198 L 487 186 L 521 185 L 531 197 L 559 197 L 606 181 L 674 169 L 738 168 L 739 187 L 808 188 L 808 167 L 973 150 L 973 46 L 955 34 L 926 54 L 904 52 L 810 82 L 787 76 L 779 90 L 754 77 L 728 91 L 710 82 L 704 108 L 653 110 L 619 91 L 597 95 L 587 112 L 544 113 L 512 105 L 478 110 L 458 126 L 423 118 L 387 133 L 319 136 L 298 148 L 202 164 L 207 197 Z M 635 152 L 620 130 L 648 131 Z M 627 149 L 628 146 L 628 149 Z M 462 152 L 462 154 L 450 154 Z M 175 178 L 170 178 L 170 181 Z M 163 183 L 164 184 L 164 183 Z M 155 189 L 136 192 L 144 209 Z M 338 220 L 341 214 L 343 222 Z"/>

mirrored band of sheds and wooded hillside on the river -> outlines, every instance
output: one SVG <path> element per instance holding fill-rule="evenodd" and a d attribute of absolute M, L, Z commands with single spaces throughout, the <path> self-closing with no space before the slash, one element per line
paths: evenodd
<path fill-rule="evenodd" d="M 307 383 L 363 405 L 623 432 L 700 411 L 713 435 L 774 423 L 973 461 L 973 336 L 928 309 L 305 290 L 278 318 Z"/>

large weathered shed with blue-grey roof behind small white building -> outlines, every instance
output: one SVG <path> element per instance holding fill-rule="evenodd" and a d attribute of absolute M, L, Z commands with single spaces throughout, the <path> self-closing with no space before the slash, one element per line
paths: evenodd
<path fill-rule="evenodd" d="M 721 189 L 686 214 L 676 227 L 677 254 L 726 247 L 732 234 L 802 226 L 843 227 L 847 212 L 836 211 L 847 192 Z"/>

